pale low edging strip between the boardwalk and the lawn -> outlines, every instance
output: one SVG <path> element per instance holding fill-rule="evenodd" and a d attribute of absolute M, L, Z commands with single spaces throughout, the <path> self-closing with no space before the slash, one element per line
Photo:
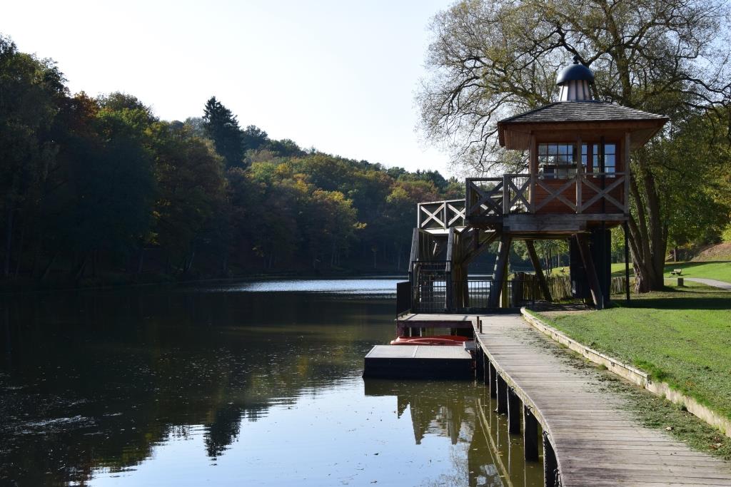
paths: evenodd
<path fill-rule="evenodd" d="M 703 404 L 700 404 L 700 402 L 697 402 L 692 397 L 675 391 L 675 389 L 671 388 L 668 383 L 653 382 L 646 372 L 623 364 L 616 358 L 607 356 L 604 353 L 599 353 L 596 350 L 567 337 L 565 334 L 561 333 L 561 331 L 553 328 L 553 326 L 549 326 L 541 319 L 531 315 L 525 307 L 520 308 L 520 312 L 523 314 L 523 318 L 529 323 L 529 325 L 533 326 L 534 329 L 537 329 L 541 333 L 548 335 L 548 337 L 555 342 L 561 343 L 561 345 L 566 345 L 571 350 L 580 353 L 595 364 L 604 365 L 610 372 L 613 372 L 620 377 L 624 377 L 626 380 L 637 384 L 637 386 L 643 387 L 651 393 L 656 394 L 656 396 L 662 396 L 675 404 L 682 404 L 686 407 L 686 410 L 688 410 L 689 413 L 696 415 L 698 418 L 701 418 L 714 428 L 719 429 L 727 437 L 731 437 L 731 421 L 717 413 L 714 413 L 713 410 Z"/>

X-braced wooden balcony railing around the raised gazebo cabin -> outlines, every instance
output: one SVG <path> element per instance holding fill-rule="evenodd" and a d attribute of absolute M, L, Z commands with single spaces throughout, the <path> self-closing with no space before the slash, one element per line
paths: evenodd
<path fill-rule="evenodd" d="M 628 183 L 624 172 L 580 172 L 565 179 L 508 174 L 466 180 L 466 217 L 513 213 L 624 213 Z"/>

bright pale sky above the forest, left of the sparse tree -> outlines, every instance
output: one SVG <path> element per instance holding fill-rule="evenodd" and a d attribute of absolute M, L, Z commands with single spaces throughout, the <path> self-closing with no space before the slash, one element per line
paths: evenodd
<path fill-rule="evenodd" d="M 164 120 L 216 96 L 274 139 L 449 174 L 416 130 L 431 18 L 450 0 L 6 1 L 0 33 L 72 92 L 124 91 Z"/>

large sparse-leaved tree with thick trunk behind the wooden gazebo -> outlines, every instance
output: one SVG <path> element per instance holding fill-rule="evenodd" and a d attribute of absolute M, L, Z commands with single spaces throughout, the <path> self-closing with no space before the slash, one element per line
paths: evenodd
<path fill-rule="evenodd" d="M 467 169 L 496 169 L 506 159 L 496 121 L 553 101 L 557 69 L 577 55 L 600 99 L 669 116 L 662 137 L 672 141 L 673 125 L 731 99 L 728 13 L 723 0 L 460 1 L 431 26 L 431 77 L 417 97 L 423 130 L 455 141 Z M 632 155 L 630 184 L 638 291 L 662 288 L 669 225 L 664 174 L 646 155 Z"/>

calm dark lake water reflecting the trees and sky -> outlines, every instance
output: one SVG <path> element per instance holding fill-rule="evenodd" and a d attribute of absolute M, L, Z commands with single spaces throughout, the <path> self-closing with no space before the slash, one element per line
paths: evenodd
<path fill-rule="evenodd" d="M 482 385 L 360 377 L 395 282 L 1 296 L 0 485 L 542 485 Z"/>

